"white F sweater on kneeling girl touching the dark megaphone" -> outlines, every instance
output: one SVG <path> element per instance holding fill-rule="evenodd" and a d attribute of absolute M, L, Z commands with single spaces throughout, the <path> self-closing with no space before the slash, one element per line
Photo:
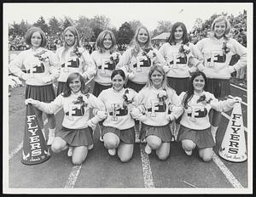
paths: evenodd
<path fill-rule="evenodd" d="M 83 98 L 84 104 L 77 102 L 79 97 Z M 90 118 L 90 108 L 105 110 L 105 106 L 99 98 L 96 98 L 90 93 L 84 95 L 81 92 L 71 93 L 71 95 L 68 97 L 63 97 L 63 93 L 61 93 L 49 104 L 36 101 L 36 104 L 33 105 L 39 110 L 43 110 L 47 114 L 54 114 L 56 110 L 63 107 L 64 118 L 62 126 L 70 129 L 81 129 L 88 127 L 87 122 Z M 93 118 L 91 118 L 91 121 L 96 124 L 98 121 L 102 121 L 102 118 L 95 115 Z"/>

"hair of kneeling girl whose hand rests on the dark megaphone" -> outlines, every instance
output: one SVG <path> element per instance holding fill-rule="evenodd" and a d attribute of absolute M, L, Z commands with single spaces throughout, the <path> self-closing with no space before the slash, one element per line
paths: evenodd
<path fill-rule="evenodd" d="M 70 94 L 71 94 L 71 88 L 69 87 L 69 84 L 75 79 L 79 77 L 79 80 L 81 82 L 81 93 L 89 93 L 90 91 L 90 87 L 86 87 L 85 86 L 85 80 L 84 80 L 84 77 L 81 76 L 78 72 L 73 72 L 71 73 L 68 77 L 67 77 L 67 88 L 66 90 L 64 91 L 63 93 L 63 97 L 68 97 Z"/>

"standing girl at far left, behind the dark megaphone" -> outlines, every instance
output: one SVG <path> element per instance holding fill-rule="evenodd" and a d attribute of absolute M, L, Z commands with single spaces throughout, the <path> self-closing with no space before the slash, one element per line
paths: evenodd
<path fill-rule="evenodd" d="M 55 53 L 45 48 L 46 37 L 38 27 L 32 27 L 26 32 L 26 44 L 31 48 L 22 51 L 10 62 L 9 71 L 26 82 L 26 98 L 37 99 L 49 103 L 55 99 L 53 81 L 59 76 L 58 59 Z M 21 70 L 25 67 L 26 72 Z M 38 124 L 44 134 L 43 112 L 35 108 Z M 48 145 L 55 138 L 55 115 L 46 114 L 49 123 Z M 45 134 L 44 134 L 45 138 Z"/>

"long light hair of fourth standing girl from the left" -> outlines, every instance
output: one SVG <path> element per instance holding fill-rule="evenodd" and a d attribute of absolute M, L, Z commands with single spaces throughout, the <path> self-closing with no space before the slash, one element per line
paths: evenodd
<path fill-rule="evenodd" d="M 147 31 L 148 33 L 148 40 L 146 43 L 141 43 L 138 41 L 137 37 L 138 37 L 138 34 L 139 34 L 139 31 L 141 29 L 144 29 L 145 31 Z M 150 34 L 149 34 L 149 31 L 148 29 L 145 27 L 145 26 L 139 26 L 129 44 L 132 48 L 131 50 L 131 55 L 133 56 L 137 56 L 137 54 L 139 53 L 140 49 L 143 48 L 143 49 L 148 49 L 148 48 L 153 48 L 152 46 L 152 43 L 151 43 L 151 37 L 150 37 Z"/>

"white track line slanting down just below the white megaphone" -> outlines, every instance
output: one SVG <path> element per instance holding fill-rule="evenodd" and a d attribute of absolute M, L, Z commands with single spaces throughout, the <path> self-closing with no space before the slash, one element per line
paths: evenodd
<path fill-rule="evenodd" d="M 234 177 L 232 172 L 224 165 L 222 160 L 218 158 L 218 156 L 212 151 L 212 160 L 214 163 L 218 166 L 218 168 L 221 170 L 221 172 L 224 173 L 224 176 L 229 180 L 229 182 L 233 185 L 236 189 L 243 189 L 241 183 Z"/>

